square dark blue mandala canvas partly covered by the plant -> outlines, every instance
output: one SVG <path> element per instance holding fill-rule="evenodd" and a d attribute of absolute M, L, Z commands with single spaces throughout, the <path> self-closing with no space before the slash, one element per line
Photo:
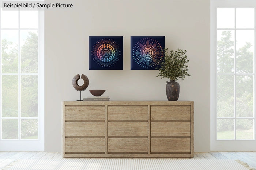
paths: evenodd
<path fill-rule="evenodd" d="M 131 36 L 131 70 L 157 70 L 165 36 Z"/>

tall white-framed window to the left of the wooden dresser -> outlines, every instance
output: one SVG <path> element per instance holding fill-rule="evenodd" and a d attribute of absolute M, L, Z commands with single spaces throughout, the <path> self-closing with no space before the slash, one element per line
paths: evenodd
<path fill-rule="evenodd" d="M 44 150 L 44 12 L 0 12 L 0 150 Z"/>

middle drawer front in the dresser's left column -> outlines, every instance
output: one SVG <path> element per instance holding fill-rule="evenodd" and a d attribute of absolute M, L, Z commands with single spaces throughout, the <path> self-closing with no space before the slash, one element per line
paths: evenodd
<path fill-rule="evenodd" d="M 105 137 L 103 122 L 66 122 L 66 137 Z"/>

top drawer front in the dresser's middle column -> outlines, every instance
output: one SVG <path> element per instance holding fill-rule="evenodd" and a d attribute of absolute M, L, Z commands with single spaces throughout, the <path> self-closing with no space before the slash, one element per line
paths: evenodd
<path fill-rule="evenodd" d="M 147 120 L 147 106 L 109 106 L 108 120 Z"/>

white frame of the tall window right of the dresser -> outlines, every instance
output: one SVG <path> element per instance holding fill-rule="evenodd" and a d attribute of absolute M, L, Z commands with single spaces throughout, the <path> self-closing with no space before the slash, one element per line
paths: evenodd
<path fill-rule="evenodd" d="M 255 19 L 256 19 L 256 1 L 254 0 L 211 0 L 211 151 L 256 151 L 256 130 L 255 130 L 255 52 L 256 45 L 254 44 L 254 139 L 217 139 L 217 109 L 216 109 L 216 99 L 217 99 L 217 8 L 254 8 L 255 9 Z M 236 14 L 235 14 L 236 20 Z M 256 29 L 256 21 L 254 26 L 254 31 Z M 226 30 L 226 29 L 225 29 Z M 235 24 L 235 29 L 236 24 Z M 256 32 L 255 38 L 256 40 Z M 236 52 L 236 43 L 235 49 Z M 236 56 L 235 56 L 236 58 Z M 235 64 L 235 63 L 234 63 Z M 233 74 L 232 74 L 233 75 Z M 247 74 L 246 74 L 247 75 Z M 234 76 L 236 76 L 236 71 L 234 70 Z M 234 82 L 236 83 L 236 82 Z M 236 90 L 234 88 L 234 90 Z M 235 96 L 234 96 L 235 97 Z M 235 115 L 235 119 L 236 115 Z M 251 118 L 250 118 L 251 119 Z M 234 127 L 236 132 L 236 127 Z"/>

